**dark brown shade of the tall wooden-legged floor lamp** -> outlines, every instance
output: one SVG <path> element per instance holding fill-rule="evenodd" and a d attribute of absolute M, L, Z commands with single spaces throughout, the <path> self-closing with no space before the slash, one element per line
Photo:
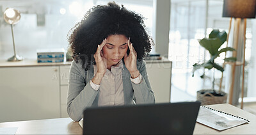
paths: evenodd
<path fill-rule="evenodd" d="M 224 0 L 222 17 L 255 19 L 256 0 Z"/>

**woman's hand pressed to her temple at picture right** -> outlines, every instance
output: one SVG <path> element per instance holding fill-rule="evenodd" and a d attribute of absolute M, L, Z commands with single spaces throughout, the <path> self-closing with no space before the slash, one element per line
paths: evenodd
<path fill-rule="evenodd" d="M 140 71 L 137 69 L 137 52 L 132 46 L 132 43 L 130 42 L 130 38 L 127 41 L 127 45 L 130 49 L 130 53 L 129 55 L 125 53 L 125 56 L 124 56 L 125 67 L 129 70 L 131 77 L 136 78 L 140 75 Z"/>

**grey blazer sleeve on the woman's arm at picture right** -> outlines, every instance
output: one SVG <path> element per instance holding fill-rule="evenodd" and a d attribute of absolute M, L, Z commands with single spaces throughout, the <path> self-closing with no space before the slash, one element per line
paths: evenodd
<path fill-rule="evenodd" d="M 139 84 L 132 83 L 132 88 L 134 90 L 134 97 L 136 104 L 152 104 L 155 103 L 155 96 L 150 82 L 148 80 L 147 68 L 145 61 L 141 61 L 138 64 L 138 70 L 142 75 L 142 81 Z"/>

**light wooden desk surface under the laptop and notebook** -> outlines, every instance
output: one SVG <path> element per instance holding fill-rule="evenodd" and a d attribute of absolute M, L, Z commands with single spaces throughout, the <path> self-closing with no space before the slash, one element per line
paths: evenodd
<path fill-rule="evenodd" d="M 208 107 L 239 115 L 249 119 L 250 123 L 221 132 L 196 123 L 194 134 L 256 134 L 256 115 L 252 115 L 230 104 L 209 105 Z M 4 122 L 0 123 L 0 127 L 18 127 L 16 134 L 82 134 L 83 132 L 79 123 L 72 121 L 70 118 Z"/>

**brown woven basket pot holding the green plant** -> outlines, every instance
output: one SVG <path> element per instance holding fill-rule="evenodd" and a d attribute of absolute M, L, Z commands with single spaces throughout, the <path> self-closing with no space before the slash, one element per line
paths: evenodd
<path fill-rule="evenodd" d="M 227 93 L 223 91 L 199 90 L 196 92 L 196 100 L 201 102 L 201 105 L 223 104 L 227 102 Z"/>

